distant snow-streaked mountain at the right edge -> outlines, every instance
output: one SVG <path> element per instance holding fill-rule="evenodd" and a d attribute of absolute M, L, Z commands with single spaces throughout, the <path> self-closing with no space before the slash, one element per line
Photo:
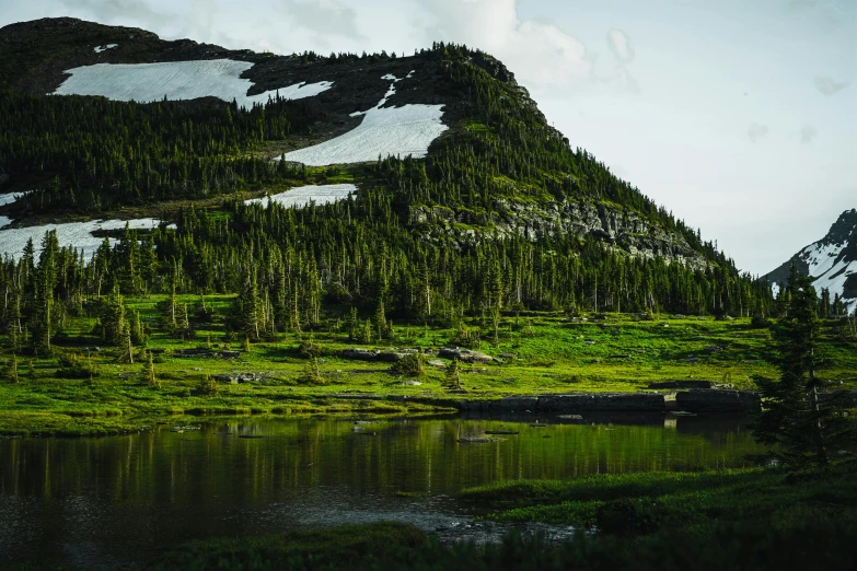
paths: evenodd
<path fill-rule="evenodd" d="M 850 311 L 857 308 L 857 209 L 846 210 L 827 234 L 801 249 L 764 279 L 779 291 L 788 281 L 791 266 L 813 278 L 815 290 L 830 292 Z"/>

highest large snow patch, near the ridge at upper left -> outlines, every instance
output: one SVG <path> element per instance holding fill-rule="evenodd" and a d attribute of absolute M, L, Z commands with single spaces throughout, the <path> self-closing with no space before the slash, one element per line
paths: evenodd
<path fill-rule="evenodd" d="M 57 95 L 102 95 L 115 101 L 151 103 L 219 97 L 239 106 L 266 103 L 279 93 L 286 100 L 312 97 L 327 91 L 333 82 L 296 83 L 288 88 L 247 95 L 252 82 L 241 74 L 253 67 L 248 61 L 209 59 L 161 63 L 96 63 L 66 71 L 71 77 L 54 92 Z"/>

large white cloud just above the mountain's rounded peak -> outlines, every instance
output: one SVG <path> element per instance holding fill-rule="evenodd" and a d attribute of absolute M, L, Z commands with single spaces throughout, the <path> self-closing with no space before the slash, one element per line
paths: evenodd
<path fill-rule="evenodd" d="M 536 92 L 566 91 L 591 79 L 586 46 L 554 24 L 521 20 L 516 0 L 418 0 L 431 23 L 426 43 L 455 42 L 502 60 Z"/>

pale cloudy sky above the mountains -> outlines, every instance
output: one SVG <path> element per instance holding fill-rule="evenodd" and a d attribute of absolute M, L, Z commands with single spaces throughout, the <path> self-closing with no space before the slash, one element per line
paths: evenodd
<path fill-rule="evenodd" d="M 502 60 L 548 121 L 762 275 L 857 208 L 857 0 L 0 0 L 229 48 Z"/>

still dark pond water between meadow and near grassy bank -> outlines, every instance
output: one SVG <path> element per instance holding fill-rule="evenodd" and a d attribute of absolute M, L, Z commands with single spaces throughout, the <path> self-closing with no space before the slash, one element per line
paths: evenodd
<path fill-rule="evenodd" d="M 545 421 L 247 419 L 103 439 L 3 440 L 0 561 L 119 567 L 195 538 L 379 520 L 443 535 L 482 513 L 458 499 L 465 487 L 737 467 L 760 452 L 743 419 Z M 486 430 L 519 434 L 459 442 Z"/>

